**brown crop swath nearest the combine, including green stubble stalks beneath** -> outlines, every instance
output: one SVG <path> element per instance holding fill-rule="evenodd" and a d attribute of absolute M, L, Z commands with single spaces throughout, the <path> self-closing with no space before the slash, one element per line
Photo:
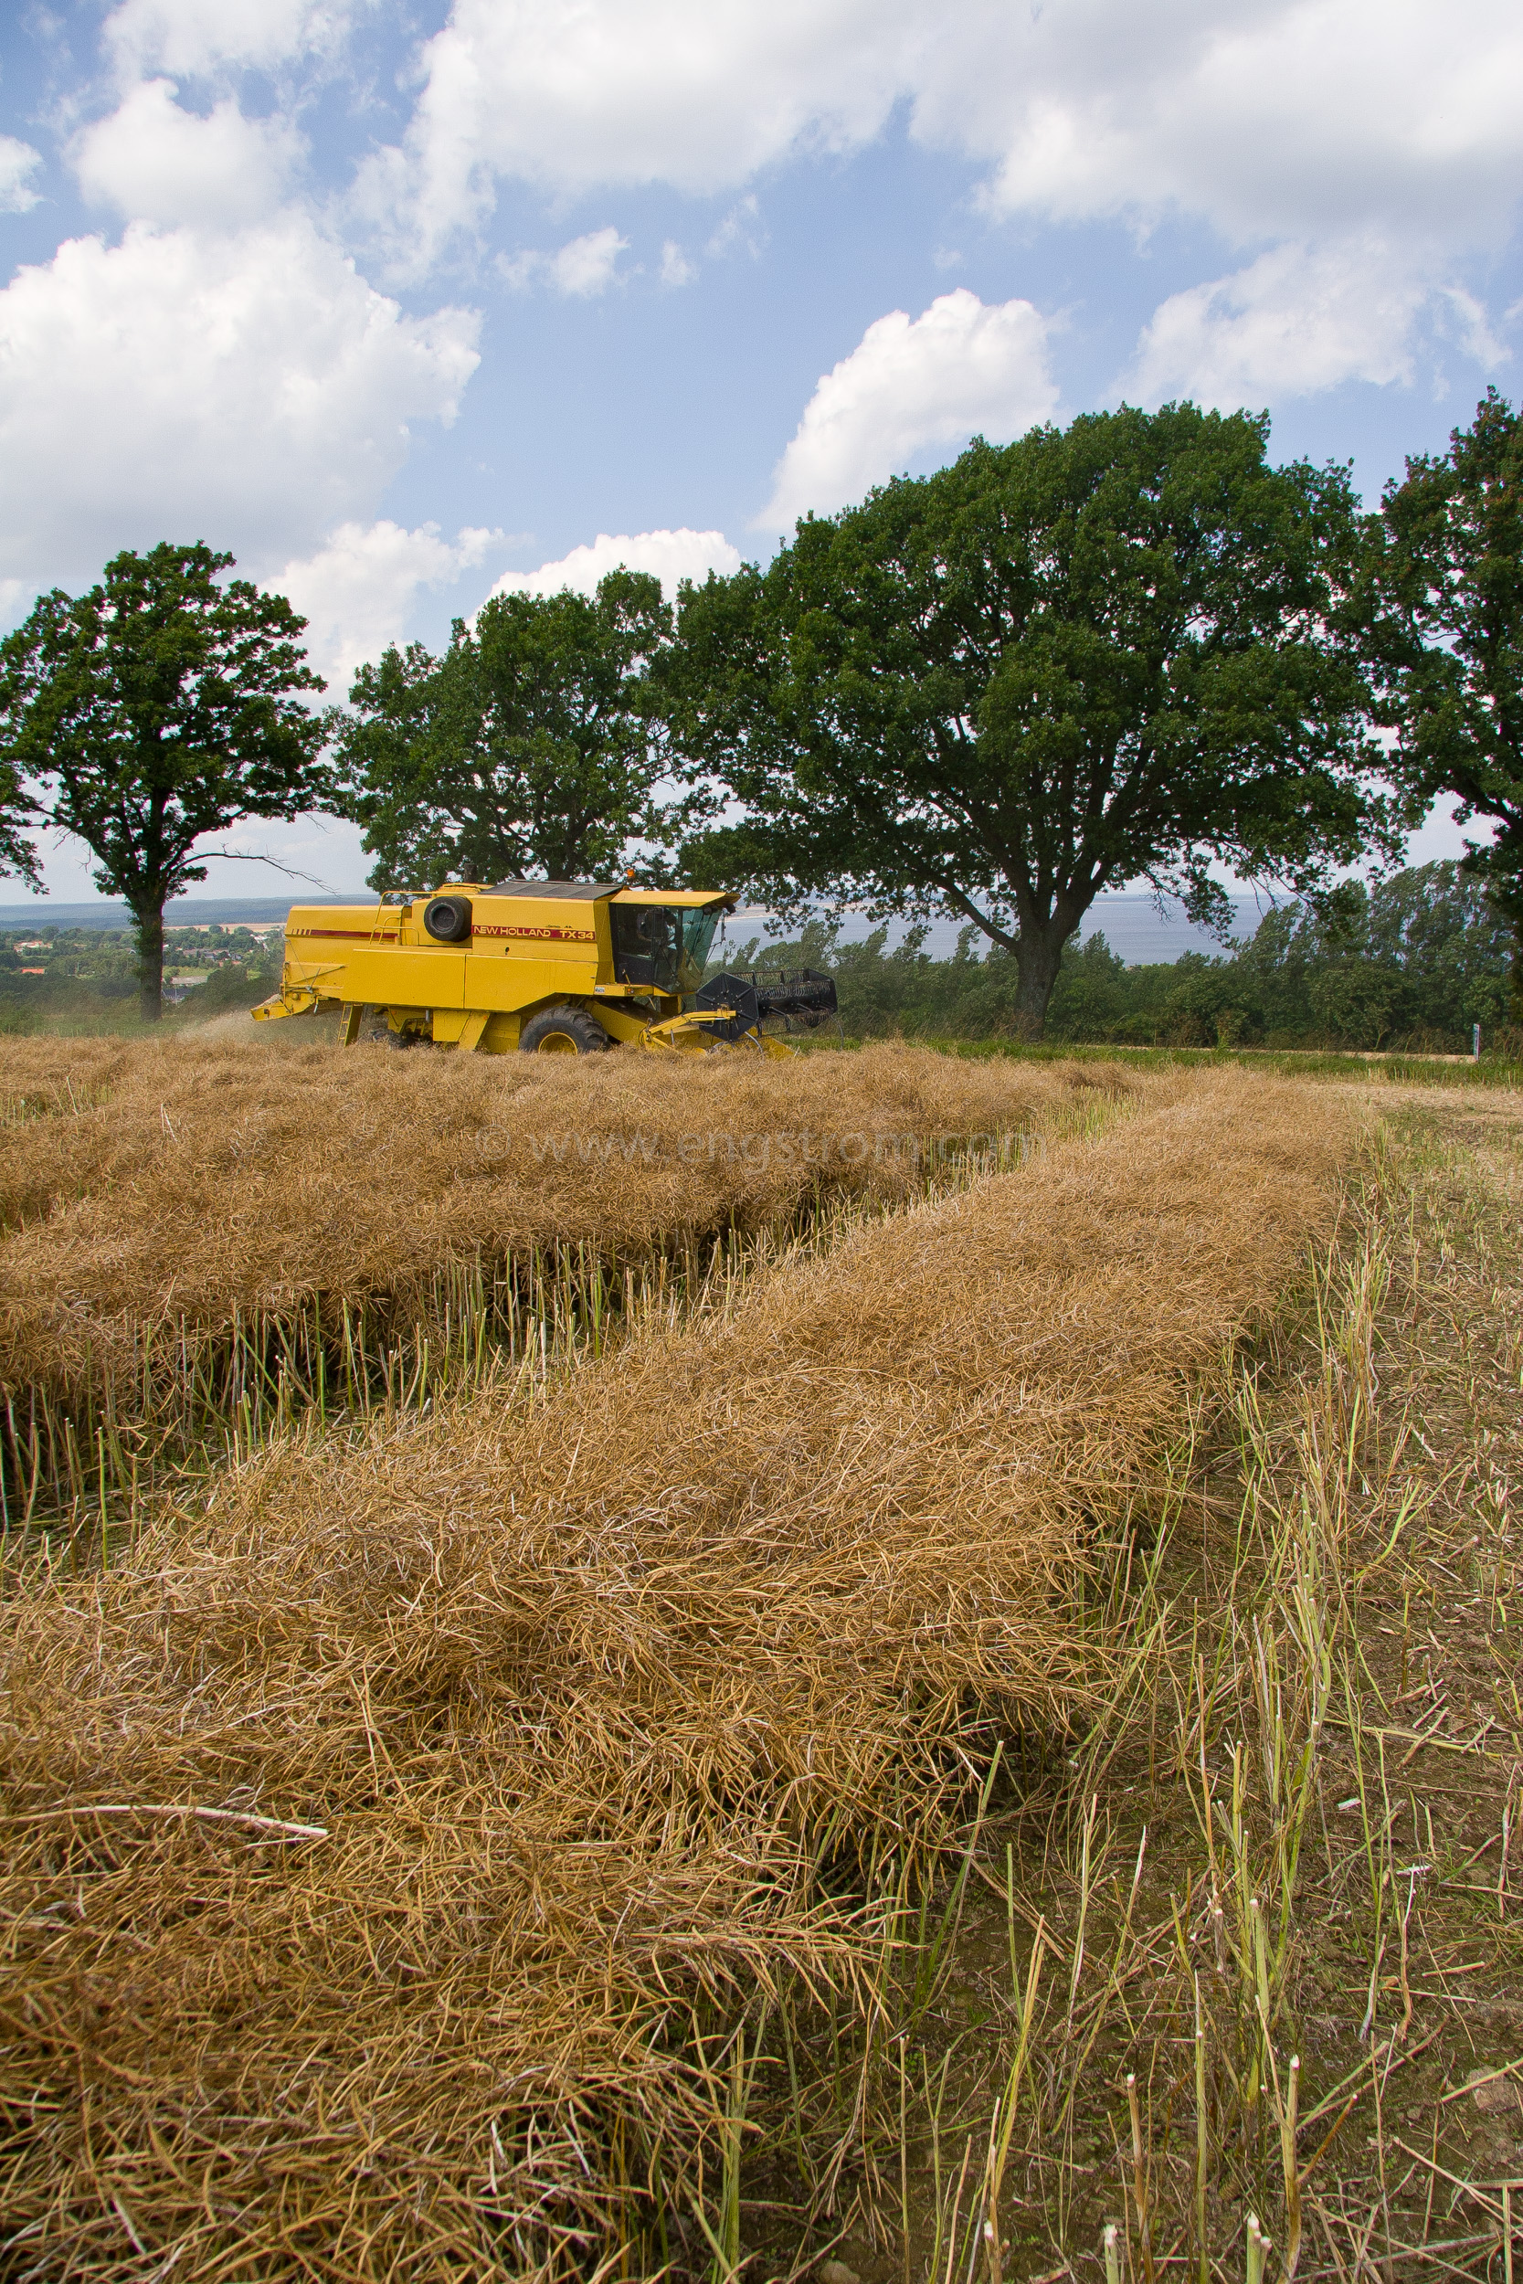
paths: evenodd
<path fill-rule="evenodd" d="M 925 1048 L 596 1064 L 0 1042 L 0 1448 L 25 1512 L 116 1491 L 169 1427 L 438 1391 L 543 1320 L 706 1274 L 715 1240 L 1021 1153 L 1107 1071 Z M 635 1286 L 628 1286 L 628 1279 Z M 406 1357 L 402 1357 L 406 1343 Z M 427 1352 L 425 1352 L 427 1343 Z M 135 1439 L 137 1437 L 137 1439 Z M 41 1510 L 37 1507 L 41 1496 Z"/>

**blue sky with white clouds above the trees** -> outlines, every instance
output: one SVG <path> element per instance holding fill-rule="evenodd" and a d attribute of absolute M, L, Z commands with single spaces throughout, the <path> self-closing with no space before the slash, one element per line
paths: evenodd
<path fill-rule="evenodd" d="M 1493 0 L 21 7 L 0 132 L 5 619 L 203 537 L 338 690 L 498 580 L 765 557 L 975 429 L 1270 407 L 1375 498 L 1516 395 Z"/>

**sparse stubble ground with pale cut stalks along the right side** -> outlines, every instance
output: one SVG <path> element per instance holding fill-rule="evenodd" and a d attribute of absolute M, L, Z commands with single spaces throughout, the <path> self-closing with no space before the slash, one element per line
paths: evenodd
<path fill-rule="evenodd" d="M 1297 1306 L 1096 1535 L 1096 1720 L 980 1800 L 877 2035 L 795 2019 L 801 2126 L 758 2067 L 763 2273 L 1516 2268 L 1523 1112 L 1381 1110 Z"/>

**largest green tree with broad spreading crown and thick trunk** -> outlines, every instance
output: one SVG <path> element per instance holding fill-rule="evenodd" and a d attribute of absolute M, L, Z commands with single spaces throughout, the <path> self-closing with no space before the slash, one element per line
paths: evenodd
<path fill-rule="evenodd" d="M 1039 1032 L 1101 888 L 1224 918 L 1212 859 L 1311 886 L 1386 827 L 1340 612 L 1343 468 L 1267 418 L 1121 409 L 975 441 L 685 587 L 674 733 L 742 820 L 690 868 L 779 911 L 943 911 L 1016 955 Z"/>

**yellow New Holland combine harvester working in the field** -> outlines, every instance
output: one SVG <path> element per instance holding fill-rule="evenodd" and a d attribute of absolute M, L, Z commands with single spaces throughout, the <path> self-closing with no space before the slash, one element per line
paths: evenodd
<path fill-rule="evenodd" d="M 817 1023 L 836 1010 L 836 984 L 808 968 L 776 984 L 742 975 L 706 984 L 715 930 L 733 909 L 728 893 L 587 879 L 297 904 L 281 989 L 253 1016 L 338 1005 L 345 1046 L 372 1007 L 395 1046 L 432 1039 L 486 1055 L 594 1055 L 628 1042 L 690 1055 L 717 1046 L 788 1055 L 763 1019 Z"/>

